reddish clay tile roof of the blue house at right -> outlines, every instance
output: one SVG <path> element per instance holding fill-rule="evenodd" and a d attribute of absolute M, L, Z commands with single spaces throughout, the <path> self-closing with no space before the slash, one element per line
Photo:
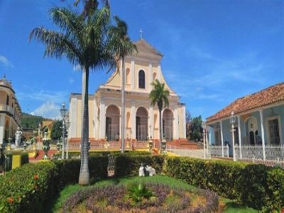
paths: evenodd
<path fill-rule="evenodd" d="M 232 111 L 234 111 L 234 114 L 239 114 L 244 111 L 249 111 L 251 109 L 266 106 L 268 104 L 281 102 L 283 100 L 284 82 L 280 82 L 279 84 L 275 84 L 259 92 L 236 99 L 224 109 L 221 109 L 216 114 L 209 116 L 207 118 L 207 122 L 228 117 L 231 115 Z"/>

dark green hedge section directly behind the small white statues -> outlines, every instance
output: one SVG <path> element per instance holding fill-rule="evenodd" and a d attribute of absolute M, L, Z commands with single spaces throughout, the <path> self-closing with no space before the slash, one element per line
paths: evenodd
<path fill-rule="evenodd" d="M 164 157 L 152 155 L 116 155 L 114 157 L 114 175 L 116 177 L 138 175 L 141 163 L 155 168 L 156 173 L 163 169 Z"/>

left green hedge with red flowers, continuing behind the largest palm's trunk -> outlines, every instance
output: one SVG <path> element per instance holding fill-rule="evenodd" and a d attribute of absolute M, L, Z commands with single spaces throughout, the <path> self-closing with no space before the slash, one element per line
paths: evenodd
<path fill-rule="evenodd" d="M 107 178 L 107 157 L 90 157 L 90 178 Z M 0 176 L 0 212 L 42 212 L 48 200 L 78 181 L 80 160 L 28 163 Z"/>

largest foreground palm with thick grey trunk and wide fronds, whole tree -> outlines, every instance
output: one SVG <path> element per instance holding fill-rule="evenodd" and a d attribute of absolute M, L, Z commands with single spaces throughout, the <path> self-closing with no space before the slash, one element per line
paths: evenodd
<path fill-rule="evenodd" d="M 30 40 L 35 38 L 45 44 L 44 56 L 67 58 L 82 69 L 82 129 L 80 185 L 89 184 L 89 71 L 114 65 L 107 31 L 110 22 L 109 5 L 85 18 L 70 9 L 54 7 L 50 18 L 60 28 L 51 31 L 44 27 L 34 28 Z"/>

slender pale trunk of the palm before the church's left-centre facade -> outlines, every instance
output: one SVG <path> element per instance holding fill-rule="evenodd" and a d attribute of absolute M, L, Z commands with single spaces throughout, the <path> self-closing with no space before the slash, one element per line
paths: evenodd
<path fill-rule="evenodd" d="M 124 133 L 125 133 L 125 73 L 124 57 L 122 57 L 121 68 L 121 153 L 124 153 Z"/>

